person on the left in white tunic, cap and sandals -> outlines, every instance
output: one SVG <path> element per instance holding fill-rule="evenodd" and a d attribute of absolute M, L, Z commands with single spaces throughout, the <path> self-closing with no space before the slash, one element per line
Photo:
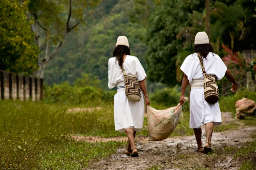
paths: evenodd
<path fill-rule="evenodd" d="M 144 79 L 147 77 L 139 59 L 130 55 L 129 42 L 127 37 L 119 36 L 112 58 L 108 60 L 108 88 L 117 88 L 114 97 L 114 118 L 115 129 L 125 132 L 129 144 L 125 154 L 138 157 L 138 151 L 134 143 L 136 132 L 143 128 L 144 99 L 141 96 L 139 102 L 128 101 L 125 95 L 124 74 L 136 76 L 140 83 L 141 91 L 145 96 L 145 103 L 150 104 Z"/>

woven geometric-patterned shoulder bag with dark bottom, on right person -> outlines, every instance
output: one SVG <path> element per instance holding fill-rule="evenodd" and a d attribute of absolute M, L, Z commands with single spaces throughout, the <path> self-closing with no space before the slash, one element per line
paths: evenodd
<path fill-rule="evenodd" d="M 210 104 L 215 104 L 220 98 L 219 88 L 216 83 L 216 76 L 207 74 L 204 70 L 203 58 L 199 55 L 198 58 L 204 74 L 204 100 Z"/>

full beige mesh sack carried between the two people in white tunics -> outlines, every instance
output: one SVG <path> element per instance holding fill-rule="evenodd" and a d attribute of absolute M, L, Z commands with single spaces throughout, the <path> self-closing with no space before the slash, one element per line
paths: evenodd
<path fill-rule="evenodd" d="M 185 98 L 187 101 L 188 98 Z M 164 140 L 169 137 L 177 127 L 182 112 L 182 106 L 178 104 L 165 110 L 156 110 L 147 107 L 148 113 L 148 138 L 151 141 Z"/>

